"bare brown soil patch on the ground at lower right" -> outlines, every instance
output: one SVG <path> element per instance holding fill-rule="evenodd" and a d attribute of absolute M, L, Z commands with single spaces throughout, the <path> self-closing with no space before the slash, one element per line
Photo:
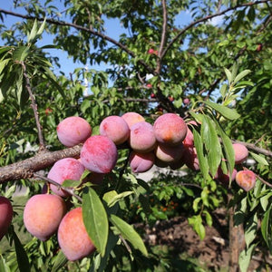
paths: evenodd
<path fill-rule="evenodd" d="M 216 218 L 221 224 L 221 229 L 224 227 L 227 229 L 226 212 L 218 210 Z M 200 266 L 207 267 L 208 271 L 228 271 L 229 269 L 228 230 L 219 233 L 217 228 L 208 226 L 206 227 L 206 237 L 200 240 L 193 228 L 189 226 L 188 220 L 180 216 L 158 221 L 154 227 L 145 228 L 145 232 L 146 242 L 150 245 L 166 245 L 177 255 L 185 254 L 187 257 L 197 258 Z M 248 272 L 256 271 L 255 269 L 261 263 L 261 258 L 253 258 Z"/>

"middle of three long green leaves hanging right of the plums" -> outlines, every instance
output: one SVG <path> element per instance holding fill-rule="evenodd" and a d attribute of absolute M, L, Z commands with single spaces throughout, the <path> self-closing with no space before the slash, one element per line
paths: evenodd
<path fill-rule="evenodd" d="M 203 117 L 201 136 L 204 141 L 206 151 L 208 152 L 209 171 L 211 176 L 214 177 L 219 169 L 222 151 L 218 133 L 215 130 L 213 121 L 209 118 L 209 116 L 204 115 Z"/>

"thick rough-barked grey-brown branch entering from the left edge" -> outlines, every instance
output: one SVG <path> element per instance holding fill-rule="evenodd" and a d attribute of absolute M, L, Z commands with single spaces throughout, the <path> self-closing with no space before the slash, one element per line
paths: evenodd
<path fill-rule="evenodd" d="M 80 156 L 82 145 L 76 145 L 63 151 L 40 151 L 34 157 L 15 162 L 0 168 L 0 183 L 10 180 L 32 178 L 34 172 L 44 170 L 53 165 L 57 160 L 67 157 Z"/>

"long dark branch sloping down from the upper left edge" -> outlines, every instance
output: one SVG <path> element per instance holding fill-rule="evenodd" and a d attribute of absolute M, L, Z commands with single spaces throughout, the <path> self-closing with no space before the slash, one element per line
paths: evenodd
<path fill-rule="evenodd" d="M 3 13 L 5 15 L 12 15 L 12 16 L 15 16 L 15 17 L 20 17 L 20 18 L 23 18 L 23 19 L 29 19 L 29 20 L 37 20 L 37 21 L 40 21 L 40 22 L 44 22 L 44 18 L 39 18 L 39 17 L 35 17 L 35 16 L 31 16 L 31 15 L 21 15 L 21 14 L 17 14 L 15 12 L 11 12 L 11 11 L 7 11 L 5 9 L 2 9 L 0 8 L 0 13 Z M 57 20 L 54 20 L 54 19 L 46 19 L 46 22 L 49 23 L 49 24 L 55 24 L 55 25 L 62 25 L 62 26 L 71 26 L 77 30 L 81 30 L 81 31 L 84 31 L 86 33 L 89 33 L 89 34 L 93 34 L 95 36 L 98 36 L 118 47 L 121 48 L 121 50 L 123 50 L 124 52 L 128 53 L 129 55 L 131 55 L 131 57 L 135 57 L 135 53 L 133 53 L 131 50 L 128 49 L 128 47 L 126 47 L 125 45 L 119 43 L 118 41 L 112 39 L 111 37 L 105 35 L 105 34 L 102 34 L 98 31 L 94 31 L 88 27 L 84 27 L 83 25 L 79 25 L 79 24 L 73 24 L 73 23 L 69 23 L 69 22 L 64 22 L 64 21 L 57 21 Z M 138 60 L 138 63 L 140 63 L 143 67 L 146 68 L 146 70 L 149 72 L 149 73 L 152 73 L 152 74 L 155 74 L 154 70 L 151 68 L 150 65 L 148 65 L 147 63 L 145 63 L 143 60 Z"/>

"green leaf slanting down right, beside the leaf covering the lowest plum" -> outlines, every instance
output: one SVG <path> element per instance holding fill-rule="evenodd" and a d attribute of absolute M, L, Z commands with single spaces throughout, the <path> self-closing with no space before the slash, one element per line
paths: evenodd
<path fill-rule="evenodd" d="M 144 256 L 148 256 L 147 249 L 136 230 L 121 218 L 111 215 L 111 222 L 121 233 L 121 236 L 128 240 L 133 248 L 139 249 Z"/>

